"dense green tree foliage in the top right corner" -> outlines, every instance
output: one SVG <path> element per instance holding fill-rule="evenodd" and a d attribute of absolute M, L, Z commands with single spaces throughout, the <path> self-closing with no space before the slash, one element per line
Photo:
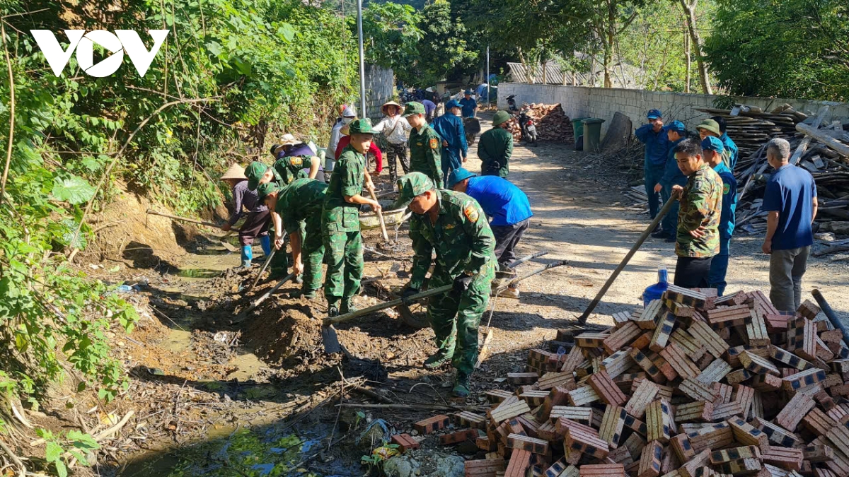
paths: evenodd
<path fill-rule="evenodd" d="M 719 0 L 711 70 L 730 93 L 849 100 L 849 3 Z"/>

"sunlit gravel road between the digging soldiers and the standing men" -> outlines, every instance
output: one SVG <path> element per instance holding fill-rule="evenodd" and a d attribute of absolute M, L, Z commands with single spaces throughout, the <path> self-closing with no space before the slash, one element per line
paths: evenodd
<path fill-rule="evenodd" d="M 491 127 L 488 119 L 487 115 L 481 121 L 484 131 Z M 469 156 L 469 170 L 480 171 L 476 154 Z M 553 339 L 558 323 L 582 313 L 648 226 L 648 215 L 639 214 L 632 202 L 621 195 L 626 184 L 612 179 L 612 174 L 599 173 L 599 168 L 585 153 L 576 152 L 571 146 L 541 143 L 537 147 L 514 148 L 509 180 L 525 191 L 534 212 L 531 227 L 519 246 L 520 255 L 548 250 L 548 255 L 536 261 L 570 263 L 523 282 L 520 306 L 515 300 L 498 300 L 492 319 L 496 330 L 494 353 L 526 349 Z M 761 289 L 768 294 L 769 257 L 761 253 L 761 243 L 760 234 L 734 238 L 728 292 Z M 814 249 L 823 246 L 816 244 Z M 811 257 L 803 291 L 812 300 L 810 291 L 821 289 L 832 308 L 849 323 L 849 261 L 832 261 L 833 258 L 834 255 Z M 631 311 L 640 305 L 643 290 L 656 281 L 657 267 L 665 265 L 672 275 L 675 261 L 674 244 L 657 239 L 646 241 L 604 296 L 590 322 L 610 324 L 612 313 Z"/>

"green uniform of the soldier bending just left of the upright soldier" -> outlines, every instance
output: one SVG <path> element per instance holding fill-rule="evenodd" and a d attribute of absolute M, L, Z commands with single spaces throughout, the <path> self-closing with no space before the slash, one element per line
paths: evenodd
<path fill-rule="evenodd" d="M 314 297 L 321 287 L 324 257 L 321 217 L 327 188 L 324 182 L 308 178 L 295 179 L 282 189 L 273 182 L 259 187 L 261 198 L 279 191 L 274 211 L 283 220 L 286 233 L 301 232 L 301 261 L 304 264 L 301 295 L 307 298 Z"/>

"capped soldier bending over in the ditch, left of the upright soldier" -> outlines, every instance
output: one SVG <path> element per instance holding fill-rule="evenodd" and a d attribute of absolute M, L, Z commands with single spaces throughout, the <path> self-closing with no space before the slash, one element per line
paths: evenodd
<path fill-rule="evenodd" d="M 324 192 L 327 184 L 315 179 L 295 179 L 284 188 L 274 182 L 267 182 L 258 188 L 261 200 L 272 210 L 275 238 L 274 247 L 284 247 L 283 231 L 289 233 L 292 246 L 292 269 L 303 276 L 301 296 L 315 298 L 316 290 L 321 287 L 321 262 L 324 257 L 324 244 L 321 233 L 321 215 L 324 206 Z M 305 229 L 301 240 L 301 229 Z M 306 260 L 301 257 L 306 255 Z"/>

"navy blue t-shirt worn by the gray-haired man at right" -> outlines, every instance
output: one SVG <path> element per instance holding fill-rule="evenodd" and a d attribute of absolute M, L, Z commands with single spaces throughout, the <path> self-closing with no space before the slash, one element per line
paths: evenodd
<path fill-rule="evenodd" d="M 763 194 L 762 209 L 779 212 L 773 250 L 791 250 L 813 244 L 813 201 L 817 186 L 810 172 L 787 164 L 773 172 Z"/>

